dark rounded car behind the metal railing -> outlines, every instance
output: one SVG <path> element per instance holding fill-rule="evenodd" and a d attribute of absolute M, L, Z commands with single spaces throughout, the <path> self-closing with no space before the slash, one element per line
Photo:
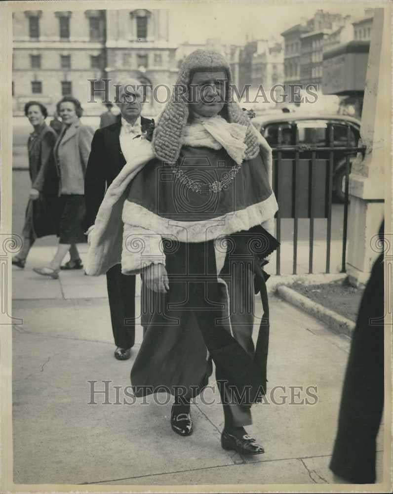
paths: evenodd
<path fill-rule="evenodd" d="M 328 124 L 333 126 L 333 145 L 335 147 L 356 147 L 360 137 L 360 122 L 347 115 L 282 113 L 264 115 L 251 121 L 268 141 L 272 148 L 278 147 L 278 129 L 281 128 L 281 145 L 295 145 L 296 128 L 299 130 L 299 144 L 303 146 L 328 147 Z M 350 133 L 349 143 L 348 128 Z M 283 152 L 283 158 L 290 151 Z M 317 157 L 328 157 L 327 151 L 317 152 Z M 322 156 L 323 155 L 323 156 Z M 293 156 L 293 151 L 292 151 Z M 350 153 L 350 163 L 356 157 L 356 151 Z M 334 152 L 333 192 L 340 202 L 344 202 L 346 151 Z"/>

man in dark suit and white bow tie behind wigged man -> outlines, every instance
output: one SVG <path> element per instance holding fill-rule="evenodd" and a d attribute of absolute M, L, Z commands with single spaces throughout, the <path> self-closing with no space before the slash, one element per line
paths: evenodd
<path fill-rule="evenodd" d="M 91 153 L 85 177 L 86 230 L 94 228 L 95 218 L 108 188 L 121 168 L 124 156 L 132 153 L 137 143 L 136 136 L 142 133 L 142 126 L 150 124 L 141 117 L 143 93 L 140 82 L 126 79 L 118 82 L 116 104 L 121 120 L 96 130 L 91 143 Z M 135 139 L 135 140 L 134 140 Z M 135 276 L 121 274 L 121 265 L 113 266 L 107 272 L 107 288 L 111 321 L 118 360 L 130 358 L 135 342 Z"/>

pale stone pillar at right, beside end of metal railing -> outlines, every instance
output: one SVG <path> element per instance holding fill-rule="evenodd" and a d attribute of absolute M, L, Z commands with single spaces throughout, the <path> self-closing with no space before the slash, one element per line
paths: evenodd
<path fill-rule="evenodd" d="M 367 146 L 352 165 L 349 193 L 348 255 L 346 269 L 350 283 L 363 286 L 378 256 L 373 236 L 384 217 L 385 197 L 391 186 L 390 167 L 390 18 L 384 8 L 374 10 L 367 63 L 360 137 Z M 385 14 L 385 15 L 384 15 Z M 385 19 L 384 19 L 385 17 Z"/>

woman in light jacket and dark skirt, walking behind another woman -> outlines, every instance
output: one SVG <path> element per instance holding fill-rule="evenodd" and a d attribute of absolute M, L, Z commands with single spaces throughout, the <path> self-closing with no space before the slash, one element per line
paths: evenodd
<path fill-rule="evenodd" d="M 91 127 L 81 124 L 82 111 L 79 101 L 72 96 L 65 96 L 57 103 L 57 113 L 64 124 L 54 147 L 60 179 L 59 246 L 49 264 L 34 268 L 39 275 L 54 279 L 59 277 L 61 268 L 82 268 L 76 244 L 85 242 L 84 176 L 94 133 Z M 67 252 L 70 260 L 61 266 Z"/>

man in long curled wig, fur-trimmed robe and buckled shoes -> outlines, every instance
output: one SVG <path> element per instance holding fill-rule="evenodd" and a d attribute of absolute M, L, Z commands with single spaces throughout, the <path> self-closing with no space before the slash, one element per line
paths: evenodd
<path fill-rule="evenodd" d="M 152 142 L 141 140 L 108 190 L 87 272 L 100 274 L 121 257 L 123 274 L 142 274 L 147 330 L 131 370 L 135 395 L 171 393 L 171 427 L 188 436 L 190 400 L 206 386 L 214 361 L 222 447 L 260 454 L 244 426 L 266 390 L 262 266 L 277 247 L 277 203 L 271 149 L 233 101 L 231 84 L 217 52 L 196 50 L 183 61 Z M 256 345 L 255 292 L 264 309 Z"/>

